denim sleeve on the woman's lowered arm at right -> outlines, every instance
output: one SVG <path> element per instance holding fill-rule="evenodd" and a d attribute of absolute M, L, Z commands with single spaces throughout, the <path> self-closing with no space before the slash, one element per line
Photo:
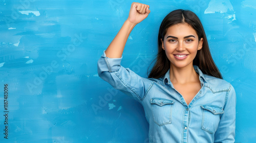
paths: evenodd
<path fill-rule="evenodd" d="M 236 130 L 236 92 L 232 85 L 226 94 L 224 114 L 215 133 L 215 142 L 234 142 Z"/>

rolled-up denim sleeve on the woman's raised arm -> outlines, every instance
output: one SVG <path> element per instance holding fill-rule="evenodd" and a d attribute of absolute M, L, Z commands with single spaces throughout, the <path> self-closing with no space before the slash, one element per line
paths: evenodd
<path fill-rule="evenodd" d="M 105 51 L 98 60 L 98 75 L 104 81 L 110 83 L 115 89 L 122 91 L 138 102 L 145 95 L 145 78 L 135 74 L 131 69 L 120 65 L 121 58 L 108 58 Z"/>

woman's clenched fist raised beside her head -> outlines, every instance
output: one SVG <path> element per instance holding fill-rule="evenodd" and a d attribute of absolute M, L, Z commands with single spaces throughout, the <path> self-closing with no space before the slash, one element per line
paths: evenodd
<path fill-rule="evenodd" d="M 137 24 L 144 20 L 148 14 L 150 14 L 150 6 L 140 3 L 132 3 L 127 20 Z"/>

